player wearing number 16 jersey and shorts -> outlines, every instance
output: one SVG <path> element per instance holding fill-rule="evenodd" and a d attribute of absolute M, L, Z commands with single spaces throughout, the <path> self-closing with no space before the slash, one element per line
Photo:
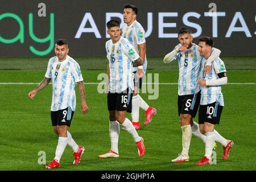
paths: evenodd
<path fill-rule="evenodd" d="M 106 154 L 98 155 L 99 158 L 118 158 L 119 123 L 133 136 L 137 144 L 139 156 L 146 151 L 143 138 L 139 137 L 133 124 L 126 118 L 126 111 L 131 113 L 131 99 L 133 97 L 133 67 L 142 65 L 142 59 L 135 52 L 133 46 L 121 37 L 120 24 L 110 20 L 106 26 L 110 40 L 106 42 L 108 58 L 108 110 L 109 110 L 109 135 L 111 150 Z"/>

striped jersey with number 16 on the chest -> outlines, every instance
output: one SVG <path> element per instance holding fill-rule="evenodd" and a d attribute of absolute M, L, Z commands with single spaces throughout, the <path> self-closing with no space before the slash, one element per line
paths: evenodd
<path fill-rule="evenodd" d="M 139 58 L 133 46 L 125 38 L 120 38 L 115 44 L 110 39 L 106 42 L 106 57 L 109 60 L 110 93 L 119 93 L 127 88 L 134 90 L 133 61 Z"/>

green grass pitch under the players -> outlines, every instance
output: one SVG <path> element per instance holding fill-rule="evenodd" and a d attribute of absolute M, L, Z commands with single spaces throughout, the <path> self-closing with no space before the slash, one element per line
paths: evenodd
<path fill-rule="evenodd" d="M 0 83 L 40 82 L 44 77 L 49 57 L 0 57 Z M 177 62 L 164 64 L 162 57 L 148 57 L 148 72 L 158 73 L 160 83 L 176 83 Z M 104 57 L 77 57 L 86 82 L 100 82 L 97 76 L 105 73 Z M 97 84 L 85 84 L 89 113 L 83 115 L 77 92 L 77 109 L 69 131 L 77 144 L 85 147 L 81 162 L 73 166 L 72 149 L 67 146 L 56 170 L 255 170 L 256 169 L 256 57 L 222 57 L 228 69 L 229 83 L 222 86 L 225 107 L 216 130 L 232 139 L 234 146 L 227 160 L 222 160 L 222 146 L 217 143 L 217 164 L 196 166 L 204 156 L 204 144 L 192 137 L 190 162 L 171 163 L 181 152 L 181 129 L 177 115 L 177 85 L 159 85 L 157 100 L 148 100 L 158 109 L 152 122 L 138 133 L 144 138 L 146 154 L 139 158 L 133 138 L 126 131 L 119 135 L 119 158 L 98 159 L 98 154 L 110 150 L 109 118 L 106 94 L 97 92 Z M 39 151 L 46 152 L 48 164 L 55 156 L 57 135 L 53 133 L 50 118 L 52 85 L 40 91 L 33 101 L 27 94 L 36 85 L 0 84 L 1 132 L 0 170 L 47 170 L 38 163 Z M 76 90 L 78 91 L 78 90 Z M 197 115 L 198 116 L 198 115 Z M 128 118 L 130 114 L 127 114 Z M 144 111 L 140 122 L 144 123 Z M 197 117 L 196 117 L 197 121 Z"/>

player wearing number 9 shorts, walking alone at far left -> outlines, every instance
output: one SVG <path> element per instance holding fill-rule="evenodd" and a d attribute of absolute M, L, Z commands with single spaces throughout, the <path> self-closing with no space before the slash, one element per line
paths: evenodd
<path fill-rule="evenodd" d="M 52 80 L 51 120 L 54 133 L 59 135 L 59 140 L 55 158 L 46 165 L 46 168 L 60 167 L 60 158 L 67 144 L 73 149 L 73 156 L 75 157 L 73 164 L 80 162 L 84 152 L 84 147 L 78 146 L 68 131 L 76 109 L 75 82 L 79 86 L 82 113 L 85 114 L 89 111 L 85 102 L 84 82 L 80 66 L 72 57 L 67 55 L 69 51 L 67 40 L 56 40 L 54 51 L 56 56 L 49 59 L 44 79 L 34 90 L 28 93 L 28 97 L 33 100 L 36 93 L 46 88 Z"/>

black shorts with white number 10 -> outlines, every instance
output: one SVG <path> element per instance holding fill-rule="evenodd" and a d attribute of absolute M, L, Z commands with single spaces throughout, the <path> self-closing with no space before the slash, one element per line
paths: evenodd
<path fill-rule="evenodd" d="M 213 102 L 208 105 L 200 105 L 199 108 L 199 124 L 204 122 L 216 125 L 220 123 L 220 116 L 224 106 L 220 106 L 218 102 Z"/>

